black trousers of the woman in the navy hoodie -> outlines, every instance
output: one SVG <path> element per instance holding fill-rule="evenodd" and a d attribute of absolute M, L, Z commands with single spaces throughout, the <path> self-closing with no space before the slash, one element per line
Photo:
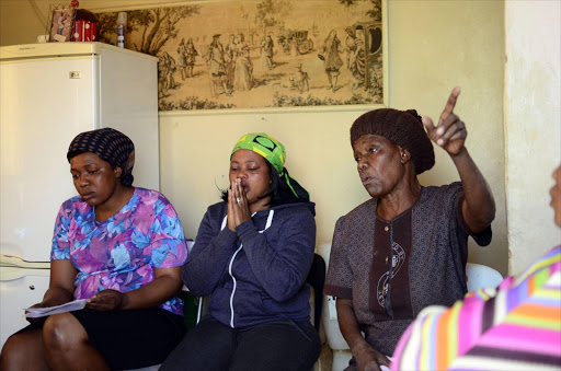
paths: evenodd
<path fill-rule="evenodd" d="M 320 337 L 309 322 L 285 320 L 238 329 L 207 315 L 185 335 L 160 371 L 310 370 L 320 351 Z"/>

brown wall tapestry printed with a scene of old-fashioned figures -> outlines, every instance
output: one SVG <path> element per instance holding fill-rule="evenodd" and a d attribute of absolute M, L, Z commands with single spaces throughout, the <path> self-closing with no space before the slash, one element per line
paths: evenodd
<path fill-rule="evenodd" d="M 115 45 L 117 12 L 98 14 Z M 160 111 L 383 103 L 381 0 L 228 1 L 127 11 L 159 58 Z"/>

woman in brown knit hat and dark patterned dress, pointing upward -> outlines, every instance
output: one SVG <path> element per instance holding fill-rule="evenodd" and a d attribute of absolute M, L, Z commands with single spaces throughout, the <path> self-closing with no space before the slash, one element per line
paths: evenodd
<path fill-rule="evenodd" d="M 436 127 L 414 109 L 381 108 L 351 128 L 358 175 L 373 198 L 337 221 L 324 289 L 337 298 L 353 353 L 348 370 L 388 367 L 423 308 L 451 305 L 467 292 L 468 236 L 491 242 L 495 204 L 454 113 L 459 93 L 453 90 Z M 461 182 L 420 184 L 417 174 L 435 162 L 431 140 L 450 155 Z"/>

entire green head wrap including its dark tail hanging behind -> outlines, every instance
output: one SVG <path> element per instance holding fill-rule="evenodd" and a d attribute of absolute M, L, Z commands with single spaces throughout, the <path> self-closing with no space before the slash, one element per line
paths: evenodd
<path fill-rule="evenodd" d="M 230 158 L 237 150 L 250 150 L 261 154 L 273 165 L 273 167 L 275 167 L 278 176 L 285 179 L 286 184 L 296 197 L 309 197 L 308 192 L 288 175 L 288 171 L 285 169 L 285 147 L 275 138 L 266 135 L 265 132 L 247 134 L 238 140 L 236 146 L 233 146 Z M 295 187 L 293 187 L 290 181 L 293 181 Z M 298 192 L 295 190 L 295 188 L 298 189 Z M 305 194 L 302 194 L 302 192 Z"/>

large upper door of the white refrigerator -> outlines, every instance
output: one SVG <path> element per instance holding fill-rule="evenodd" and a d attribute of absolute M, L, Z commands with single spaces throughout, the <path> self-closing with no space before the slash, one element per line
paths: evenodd
<path fill-rule="evenodd" d="M 76 195 L 68 144 L 98 125 L 98 63 L 0 62 L 0 254 L 48 262 L 58 208 Z"/>

